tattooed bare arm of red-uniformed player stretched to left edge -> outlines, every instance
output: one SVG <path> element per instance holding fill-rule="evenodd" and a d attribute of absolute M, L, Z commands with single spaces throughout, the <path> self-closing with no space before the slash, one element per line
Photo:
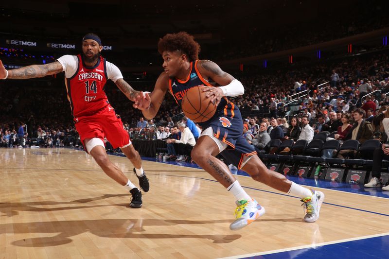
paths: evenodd
<path fill-rule="evenodd" d="M 31 65 L 20 69 L 6 70 L 0 60 L 0 79 L 28 79 L 62 72 L 62 65 L 55 61 L 45 65 Z M 8 76 L 7 76 L 8 74 Z"/>

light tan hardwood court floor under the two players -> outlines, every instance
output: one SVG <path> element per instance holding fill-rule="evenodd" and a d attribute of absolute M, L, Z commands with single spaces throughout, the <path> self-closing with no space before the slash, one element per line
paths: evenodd
<path fill-rule="evenodd" d="M 138 183 L 128 159 L 110 159 Z M 203 170 L 144 161 L 150 191 L 133 209 L 85 152 L 0 149 L 0 161 L 0 258 L 219 258 L 389 232 L 379 197 L 324 189 L 305 223 L 298 198 L 237 176 L 266 214 L 230 231 L 234 199 Z"/>

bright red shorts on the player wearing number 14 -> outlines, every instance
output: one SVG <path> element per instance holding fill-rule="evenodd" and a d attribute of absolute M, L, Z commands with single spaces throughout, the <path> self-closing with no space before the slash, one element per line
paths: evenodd
<path fill-rule="evenodd" d="M 85 139 L 100 138 L 104 142 L 104 137 L 111 143 L 113 148 L 125 147 L 131 144 L 130 137 L 123 128 L 122 120 L 110 105 L 91 116 L 76 117 L 74 121 L 84 146 Z"/>

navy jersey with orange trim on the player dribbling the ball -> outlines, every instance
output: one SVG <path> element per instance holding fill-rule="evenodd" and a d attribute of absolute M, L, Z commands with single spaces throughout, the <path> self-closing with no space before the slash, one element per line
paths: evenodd
<path fill-rule="evenodd" d="M 209 83 L 207 80 L 205 80 L 199 73 L 197 69 L 197 62 L 198 60 L 191 62 L 190 65 L 191 72 L 185 81 L 181 81 L 177 78 L 169 79 L 170 92 L 172 93 L 174 99 L 176 100 L 176 103 L 179 104 L 180 106 L 181 106 L 182 98 L 190 88 L 194 86 L 212 86 L 212 84 Z M 220 103 L 217 105 L 215 115 L 210 120 L 205 122 L 200 122 L 198 124 L 204 128 L 204 126 L 207 125 L 209 121 L 212 121 L 214 117 L 226 116 L 226 117 L 233 118 L 235 116 L 234 108 L 235 105 L 232 102 L 230 102 L 227 99 L 227 97 L 223 97 Z"/>

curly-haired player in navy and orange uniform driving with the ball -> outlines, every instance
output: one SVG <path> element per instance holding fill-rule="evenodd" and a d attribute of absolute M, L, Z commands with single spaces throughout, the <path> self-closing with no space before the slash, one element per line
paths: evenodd
<path fill-rule="evenodd" d="M 243 138 L 243 120 L 236 105 L 228 97 L 244 93 L 242 84 L 209 60 L 198 60 L 200 46 L 194 37 L 185 32 L 167 34 L 159 39 L 158 51 L 164 60 L 164 72 L 159 75 L 152 93 L 136 101 L 144 117 L 152 119 L 157 114 L 166 92 L 170 92 L 177 104 L 181 104 L 185 92 L 193 86 L 210 86 L 206 90 L 210 102 L 216 102 L 215 115 L 199 123 L 201 136 L 192 150 L 192 158 L 230 192 L 236 200 L 236 220 L 231 230 L 250 224 L 265 213 L 265 208 L 251 198 L 230 173 L 229 168 L 215 156 L 221 153 L 238 169 L 247 172 L 254 180 L 274 189 L 301 197 L 306 207 L 306 222 L 315 222 L 324 200 L 321 191 L 312 191 L 286 179 L 283 174 L 268 170 L 259 159 L 252 145 Z M 214 82 L 214 83 L 210 83 Z M 217 87 L 214 87 L 217 86 Z"/>

